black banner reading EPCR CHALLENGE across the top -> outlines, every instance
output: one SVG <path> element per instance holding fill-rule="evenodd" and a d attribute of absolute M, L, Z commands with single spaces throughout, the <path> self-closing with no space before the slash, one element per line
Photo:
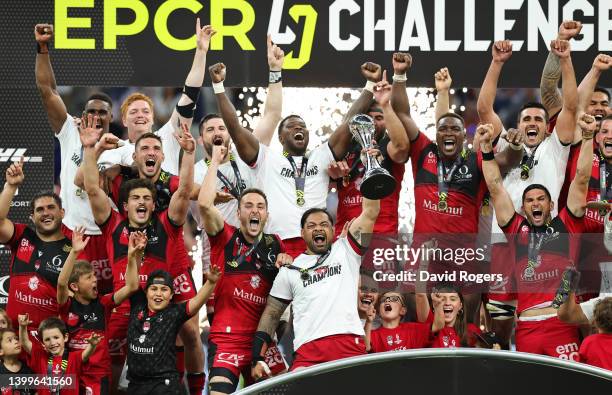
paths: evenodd
<path fill-rule="evenodd" d="M 15 6 L 23 10 L 24 3 L 30 1 Z M 478 87 L 493 41 L 509 39 L 514 54 L 501 86 L 535 87 L 550 40 L 567 19 L 584 25 L 571 43 L 578 80 L 598 53 L 612 51 L 611 0 L 35 3 L 43 3 L 33 10 L 36 21 L 55 25 L 53 58 L 72 65 L 58 72 L 58 82 L 64 85 L 82 84 L 84 75 L 88 85 L 182 85 L 195 48 L 196 17 L 218 31 L 208 63 L 224 62 L 227 85 L 234 86 L 267 85 L 267 33 L 287 54 L 283 82 L 288 86 L 362 86 L 361 63 L 371 60 L 390 69 L 391 53 L 408 51 L 414 57 L 410 85 L 432 86 L 434 72 L 447 66 L 456 86 Z M 28 20 L 33 26 L 33 17 Z M 609 86 L 610 76 L 601 83 Z"/>

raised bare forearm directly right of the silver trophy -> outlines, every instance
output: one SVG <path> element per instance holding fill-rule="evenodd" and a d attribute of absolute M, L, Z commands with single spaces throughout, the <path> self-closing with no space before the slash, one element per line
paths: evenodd
<path fill-rule="evenodd" d="M 382 81 L 376 84 L 374 97 L 382 107 L 385 117 L 385 126 L 389 135 L 389 144 L 387 145 L 389 157 L 396 163 L 405 163 L 408 160 L 408 155 L 410 155 L 410 141 L 402 122 L 391 106 L 391 89 L 391 84 L 387 82 L 387 72 L 385 71 L 383 72 Z"/>

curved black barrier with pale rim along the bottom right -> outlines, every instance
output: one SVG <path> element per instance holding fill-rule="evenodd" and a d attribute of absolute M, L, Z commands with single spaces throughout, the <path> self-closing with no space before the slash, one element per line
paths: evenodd
<path fill-rule="evenodd" d="M 509 351 L 422 349 L 353 357 L 252 385 L 248 394 L 609 394 L 612 372 Z"/>

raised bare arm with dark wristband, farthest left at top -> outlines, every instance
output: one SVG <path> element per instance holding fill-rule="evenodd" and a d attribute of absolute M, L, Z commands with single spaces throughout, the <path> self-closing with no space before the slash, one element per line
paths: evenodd
<path fill-rule="evenodd" d="M 62 125 L 66 122 L 68 111 L 66 105 L 57 93 L 55 74 L 49 59 L 49 42 L 53 38 L 53 25 L 46 23 L 38 24 L 34 27 L 34 38 L 36 39 L 36 87 L 40 92 L 43 107 L 47 112 L 49 124 L 54 133 L 59 133 Z"/>

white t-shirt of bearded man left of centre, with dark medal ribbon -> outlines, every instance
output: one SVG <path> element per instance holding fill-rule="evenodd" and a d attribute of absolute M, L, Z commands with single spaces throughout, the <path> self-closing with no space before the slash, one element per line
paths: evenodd
<path fill-rule="evenodd" d="M 253 169 L 251 169 L 246 163 L 242 161 L 242 159 L 240 159 L 240 157 L 236 153 L 236 150 L 233 147 L 231 148 L 230 152 L 232 158 L 234 158 L 234 161 L 238 167 L 240 178 L 242 179 L 241 190 L 254 187 L 256 183 L 256 178 Z M 219 171 L 227 178 L 227 180 L 233 186 L 236 185 L 236 175 L 234 173 L 234 168 L 232 167 L 230 161 L 221 164 L 219 166 Z M 206 161 L 202 159 L 201 161 L 195 164 L 194 182 L 201 185 L 204 182 L 204 177 L 206 177 L 207 173 L 208 165 L 206 164 Z M 219 177 L 217 177 L 217 191 L 228 192 L 224 187 L 225 184 L 223 183 L 223 181 L 221 181 Z M 221 215 L 223 216 L 225 222 L 237 228 L 240 227 L 240 222 L 238 221 L 238 216 L 236 215 L 236 212 L 238 211 L 237 199 L 232 199 L 229 202 L 216 204 L 215 207 L 217 207 L 217 209 L 221 212 Z M 198 227 L 202 229 L 202 219 L 200 218 L 200 211 L 198 209 L 197 201 L 191 202 L 191 214 L 196 220 Z"/>

